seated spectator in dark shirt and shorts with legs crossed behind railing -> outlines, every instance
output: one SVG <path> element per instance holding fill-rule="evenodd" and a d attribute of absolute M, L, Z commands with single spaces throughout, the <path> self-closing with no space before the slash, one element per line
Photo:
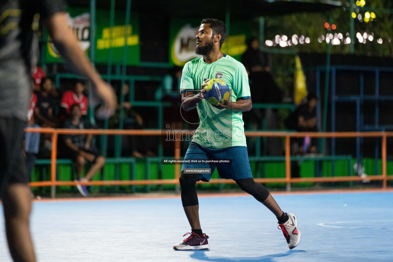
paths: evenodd
<path fill-rule="evenodd" d="M 70 118 L 64 122 L 63 128 L 71 129 L 86 129 L 91 128 L 91 125 L 81 119 L 82 112 L 79 104 L 70 106 Z M 67 148 L 67 155 L 70 156 L 75 163 L 78 180 L 75 181 L 89 181 L 105 164 L 105 158 L 101 156 L 92 142 L 93 135 L 64 135 L 64 143 Z M 84 178 L 81 178 L 81 172 L 84 168 L 85 160 L 92 163 L 92 167 L 86 173 Z M 85 185 L 77 185 L 79 192 L 83 196 L 87 196 L 88 192 Z"/>

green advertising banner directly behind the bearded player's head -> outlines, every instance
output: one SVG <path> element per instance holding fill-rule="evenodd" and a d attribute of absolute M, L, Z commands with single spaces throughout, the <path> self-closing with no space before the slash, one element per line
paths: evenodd
<path fill-rule="evenodd" d="M 200 19 L 173 18 L 169 28 L 169 64 L 184 66 L 192 59 L 201 57 L 195 54 L 196 35 L 200 26 Z M 222 44 L 221 52 L 241 60 L 246 51 L 246 39 L 252 36 L 251 21 L 235 21 L 230 24 L 230 35 Z"/>

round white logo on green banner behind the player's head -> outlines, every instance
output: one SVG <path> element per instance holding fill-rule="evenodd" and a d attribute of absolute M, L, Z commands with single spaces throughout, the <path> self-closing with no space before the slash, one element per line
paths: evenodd
<path fill-rule="evenodd" d="M 195 54 L 196 35 L 199 27 L 191 27 L 191 24 L 183 26 L 173 40 L 171 46 L 171 59 L 176 66 L 184 66 L 186 62 L 201 55 Z"/>

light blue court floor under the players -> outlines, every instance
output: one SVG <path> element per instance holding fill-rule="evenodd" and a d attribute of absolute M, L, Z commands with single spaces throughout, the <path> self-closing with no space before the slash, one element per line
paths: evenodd
<path fill-rule="evenodd" d="M 174 251 L 189 232 L 180 198 L 35 202 L 39 262 L 387 262 L 393 261 L 393 192 L 274 195 L 295 213 L 298 247 L 249 196 L 201 197 L 209 251 Z M 0 218 L 0 261 L 11 262 Z"/>

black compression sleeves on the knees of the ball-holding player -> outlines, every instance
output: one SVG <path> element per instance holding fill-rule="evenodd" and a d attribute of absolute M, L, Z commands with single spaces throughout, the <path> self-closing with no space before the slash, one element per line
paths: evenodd
<path fill-rule="evenodd" d="M 198 195 L 196 194 L 195 184 L 198 181 L 199 174 L 184 174 L 182 172 L 180 176 L 180 187 L 182 188 L 182 203 L 183 207 L 189 207 L 191 205 L 198 205 Z M 269 191 L 254 181 L 253 178 L 244 178 L 235 180 L 239 187 L 252 195 L 259 202 L 264 202 L 269 196 Z"/>

